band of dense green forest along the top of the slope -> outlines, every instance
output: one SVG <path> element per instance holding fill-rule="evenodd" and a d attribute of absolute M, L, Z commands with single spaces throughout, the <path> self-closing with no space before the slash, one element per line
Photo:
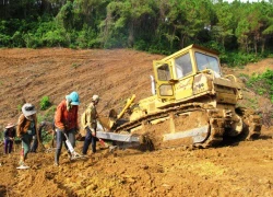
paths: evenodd
<path fill-rule="evenodd" d="M 230 65 L 273 50 L 273 3 L 263 0 L 1 0 L 0 19 L 0 47 L 169 55 L 198 44 L 218 50 Z M 245 59 L 238 60 L 240 54 Z"/>

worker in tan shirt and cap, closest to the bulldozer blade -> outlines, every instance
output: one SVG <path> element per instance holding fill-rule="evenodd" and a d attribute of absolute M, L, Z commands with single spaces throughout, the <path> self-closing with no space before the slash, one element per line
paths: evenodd
<path fill-rule="evenodd" d="M 86 154 L 90 143 L 92 143 L 92 152 L 96 152 L 96 128 L 97 128 L 97 111 L 96 111 L 96 105 L 98 104 L 99 97 L 98 95 L 93 95 L 92 96 L 92 102 L 85 109 L 85 112 L 82 114 L 81 118 L 81 125 L 82 128 L 85 129 L 86 136 L 84 139 L 84 144 L 83 144 L 83 150 L 82 154 Z"/>

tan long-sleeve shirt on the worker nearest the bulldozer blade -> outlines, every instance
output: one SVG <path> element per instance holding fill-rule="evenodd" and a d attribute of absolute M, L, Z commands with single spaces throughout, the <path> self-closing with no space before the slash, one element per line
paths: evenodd
<path fill-rule="evenodd" d="M 96 129 L 97 111 L 96 106 L 91 103 L 82 114 L 81 124 L 83 128 L 90 127 Z"/>

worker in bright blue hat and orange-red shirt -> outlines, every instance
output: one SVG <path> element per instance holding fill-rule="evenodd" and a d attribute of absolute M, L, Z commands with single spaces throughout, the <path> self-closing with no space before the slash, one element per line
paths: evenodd
<path fill-rule="evenodd" d="M 71 142 L 72 147 L 75 147 L 75 134 L 79 131 L 78 125 L 78 111 L 79 111 L 79 94 L 78 92 L 72 92 L 66 96 L 57 107 L 55 115 L 55 127 L 56 127 L 56 153 L 55 153 L 55 165 L 59 165 L 59 158 L 61 153 L 62 142 L 66 141 L 66 136 Z M 71 152 L 67 144 L 64 143 L 66 149 L 68 150 L 69 157 L 71 158 Z"/>

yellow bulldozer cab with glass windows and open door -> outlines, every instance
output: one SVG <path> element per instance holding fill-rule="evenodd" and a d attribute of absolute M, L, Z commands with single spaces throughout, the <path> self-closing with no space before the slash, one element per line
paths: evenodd
<path fill-rule="evenodd" d="M 194 78 L 199 73 L 221 77 L 217 53 L 197 45 L 154 61 L 153 66 L 157 97 L 168 101 L 193 96 Z"/>

